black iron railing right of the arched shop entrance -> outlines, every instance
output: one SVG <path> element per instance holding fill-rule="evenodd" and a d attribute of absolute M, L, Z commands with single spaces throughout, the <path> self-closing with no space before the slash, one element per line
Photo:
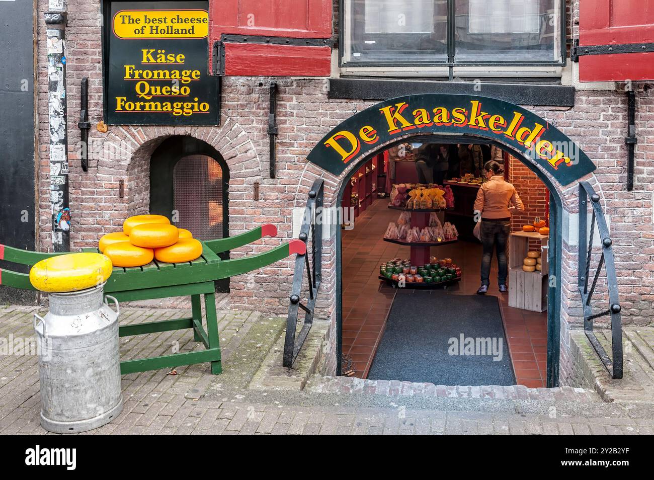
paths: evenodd
<path fill-rule="evenodd" d="M 588 200 L 591 199 L 593 215 L 591 216 L 590 233 L 588 227 Z M 593 252 L 593 234 L 597 226 L 600 235 L 600 247 L 602 254 L 598 260 L 593 283 L 589 290 L 588 284 L 591 273 L 591 254 Z M 587 240 L 589 239 L 589 240 Z M 600 196 L 595 193 L 593 187 L 588 182 L 579 182 L 579 271 L 577 280 L 579 284 L 579 294 L 583 304 L 583 330 L 591 341 L 591 345 L 602 360 L 606 369 L 611 373 L 614 379 L 622 378 L 622 320 L 620 317 L 620 299 L 617 290 L 617 278 L 615 276 L 615 262 L 613 261 L 613 250 L 611 250 L 613 241 L 609 237 L 609 230 L 606 226 L 606 218 L 602 213 L 600 206 Z M 597 281 L 604 267 L 606 275 L 606 286 L 608 288 L 609 303 L 608 309 L 598 313 L 593 313 L 591 300 L 595 293 Z M 602 344 L 598 341 L 593 332 L 593 321 L 596 318 L 611 316 L 611 354 L 612 359 L 608 356 Z"/>

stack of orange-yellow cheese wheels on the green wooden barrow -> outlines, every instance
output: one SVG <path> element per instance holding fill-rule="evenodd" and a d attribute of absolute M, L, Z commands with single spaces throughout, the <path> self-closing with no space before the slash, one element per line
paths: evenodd
<path fill-rule="evenodd" d="M 163 215 L 136 215 L 125 220 L 123 231 L 107 233 L 98 249 L 114 267 L 141 267 L 152 262 L 180 263 L 202 254 L 202 244 L 190 231 L 170 224 Z"/>

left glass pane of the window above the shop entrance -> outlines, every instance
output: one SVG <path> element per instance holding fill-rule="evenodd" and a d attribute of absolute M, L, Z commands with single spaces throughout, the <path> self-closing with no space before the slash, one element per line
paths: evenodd
<path fill-rule="evenodd" d="M 447 61 L 447 0 L 345 0 L 347 63 Z"/>

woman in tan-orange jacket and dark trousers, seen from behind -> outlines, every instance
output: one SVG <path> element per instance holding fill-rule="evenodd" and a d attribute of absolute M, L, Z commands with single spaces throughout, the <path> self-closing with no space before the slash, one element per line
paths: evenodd
<path fill-rule="evenodd" d="M 504 180 L 504 169 L 497 162 L 490 161 L 484 165 L 487 182 L 481 185 L 475 199 L 475 215 L 481 213 L 480 237 L 483 246 L 481 256 L 481 286 L 477 294 L 484 295 L 490 285 L 490 260 L 495 249 L 498 266 L 498 285 L 500 292 L 507 292 L 506 277 L 508 266 L 506 260 L 506 243 L 511 233 L 511 214 L 523 211 L 525 205 L 515 187 Z"/>

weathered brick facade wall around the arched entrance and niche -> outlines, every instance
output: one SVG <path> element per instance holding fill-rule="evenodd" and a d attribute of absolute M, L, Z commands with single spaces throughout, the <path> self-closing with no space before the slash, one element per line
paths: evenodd
<path fill-rule="evenodd" d="M 38 46 L 39 109 L 39 249 L 50 243 L 50 204 L 48 201 L 48 105 L 46 84 L 46 43 L 43 13 L 47 1 L 38 1 L 36 24 Z M 278 239 L 262 239 L 235 252 L 233 256 L 261 252 L 288 240 L 294 207 L 302 207 L 313 181 L 325 181 L 325 203 L 334 205 L 341 182 L 358 167 L 336 178 L 309 164 L 306 156 L 330 129 L 373 102 L 328 99 L 328 80 L 324 78 L 275 78 L 279 84 L 277 137 L 277 179 L 269 179 L 268 84 L 270 78 L 225 78 L 223 82 L 222 125 L 186 128 L 179 126 L 110 126 L 100 133 L 95 126 L 102 120 L 101 17 L 99 0 L 69 0 L 67 27 L 67 73 L 69 116 L 69 159 L 71 163 L 71 211 L 73 250 L 95 245 L 109 231 L 120 230 L 127 216 L 143 213 L 149 204 L 149 159 L 163 139 L 171 135 L 193 135 L 224 157 L 230 169 L 230 234 L 274 223 Z M 80 139 L 79 86 L 89 77 L 90 168 L 79 166 L 77 143 Z M 625 323 L 649 324 L 654 318 L 654 229 L 652 196 L 654 184 L 654 89 L 652 84 L 634 84 L 637 99 L 636 179 L 634 191 L 627 192 L 624 137 L 627 135 L 627 97 L 619 91 L 578 90 L 575 107 L 530 107 L 570 136 L 598 165 L 588 177 L 602 197 L 601 205 L 610 215 L 610 230 L 619 278 L 619 291 Z M 483 95 L 483 92 L 480 92 Z M 380 149 L 385 148 L 379 145 Z M 518 216 L 516 222 L 532 222 L 545 205 L 544 186 L 518 162 L 511 165 L 513 181 L 527 200 L 538 205 L 534 211 Z M 125 195 L 118 197 L 118 182 L 124 180 Z M 260 199 L 254 201 L 252 184 L 260 182 Z M 564 209 L 570 218 L 577 211 L 576 186 L 559 187 Z M 557 285 L 562 296 L 562 358 L 568 348 L 567 328 L 580 324 L 577 284 L 576 245 L 564 233 L 562 272 Z M 336 238 L 324 240 L 323 276 L 318 296 L 320 316 L 332 316 L 336 305 Z M 294 259 L 240 275 L 232 279 L 234 308 L 284 313 L 292 281 Z M 600 290 L 603 279 L 600 279 Z M 603 290 L 601 290 L 603 291 Z M 600 322 L 601 323 L 601 322 Z M 332 330 L 333 332 L 333 330 Z M 334 345 L 332 345 L 333 347 Z M 562 368 L 564 364 L 562 364 Z M 562 373 L 564 376 L 564 373 Z"/>

